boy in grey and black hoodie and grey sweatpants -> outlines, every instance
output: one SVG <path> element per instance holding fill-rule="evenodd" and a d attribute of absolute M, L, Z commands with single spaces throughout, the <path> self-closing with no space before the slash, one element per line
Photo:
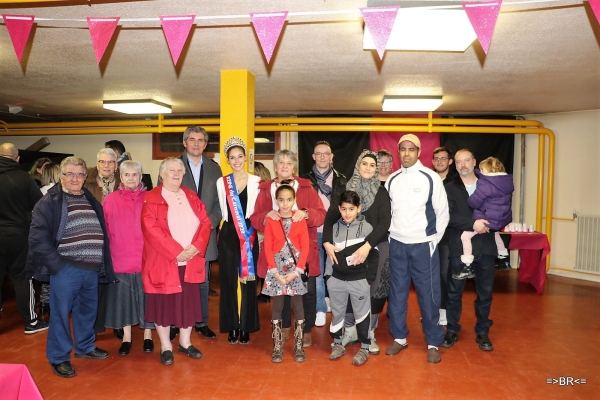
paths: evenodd
<path fill-rule="evenodd" d="M 369 327 L 371 325 L 371 293 L 370 287 L 377 274 L 379 251 L 371 249 L 367 259 L 355 265 L 353 254 L 365 242 L 365 238 L 373 231 L 365 217 L 360 215 L 360 197 L 352 190 L 340 195 L 338 204 L 341 218 L 333 225 L 333 245 L 335 258 L 327 259 L 325 279 L 331 302 L 331 325 L 329 332 L 334 344 L 330 360 L 337 360 L 346 353 L 342 345 L 342 328 L 348 297 L 352 302 L 352 311 L 356 321 L 356 330 L 360 342 L 360 350 L 352 361 L 363 365 L 369 357 Z"/>

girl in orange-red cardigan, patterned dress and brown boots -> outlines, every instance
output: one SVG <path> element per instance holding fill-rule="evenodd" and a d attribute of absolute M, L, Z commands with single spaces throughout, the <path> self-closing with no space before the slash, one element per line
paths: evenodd
<path fill-rule="evenodd" d="M 267 218 L 265 225 L 264 251 L 269 266 L 262 294 L 272 297 L 271 324 L 273 327 L 273 354 L 271 361 L 283 361 L 283 333 L 281 313 L 284 296 L 291 296 L 294 311 L 294 360 L 306 360 L 302 348 L 304 330 L 304 307 L 302 295 L 307 292 L 302 282 L 309 251 L 308 226 L 306 220 L 293 221 L 292 207 L 296 203 L 296 192 L 289 185 L 281 185 L 275 191 L 275 200 L 281 219 Z"/>

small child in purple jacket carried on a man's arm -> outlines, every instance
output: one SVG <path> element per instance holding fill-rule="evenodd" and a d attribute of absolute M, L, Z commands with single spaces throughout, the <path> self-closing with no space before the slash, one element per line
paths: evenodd
<path fill-rule="evenodd" d="M 498 257 L 500 258 L 499 269 L 510 269 L 508 262 L 508 250 L 500 237 L 498 231 L 503 229 L 512 221 L 512 193 L 515 189 L 512 175 L 506 173 L 504 165 L 495 157 L 488 157 L 479 163 L 477 175 L 477 187 L 469 196 L 469 206 L 473 208 L 473 219 L 486 220 L 490 232 L 495 232 L 496 246 L 498 246 Z M 460 260 L 464 266 L 458 274 L 453 274 L 454 279 L 473 278 L 475 271 L 471 267 L 473 263 L 473 247 L 471 238 L 475 232 L 463 232 L 463 255 Z"/>

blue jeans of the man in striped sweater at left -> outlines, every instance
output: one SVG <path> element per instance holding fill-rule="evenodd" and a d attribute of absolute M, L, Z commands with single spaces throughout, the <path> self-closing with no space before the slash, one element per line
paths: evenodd
<path fill-rule="evenodd" d="M 96 348 L 94 322 L 98 311 L 98 272 L 84 271 L 67 265 L 50 276 L 50 328 L 46 342 L 46 357 L 50 364 L 71 360 L 75 354 L 87 354 Z M 69 313 L 73 313 L 73 336 Z"/>

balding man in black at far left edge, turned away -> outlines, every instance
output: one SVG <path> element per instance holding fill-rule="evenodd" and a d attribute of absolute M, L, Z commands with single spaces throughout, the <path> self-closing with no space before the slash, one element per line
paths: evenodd
<path fill-rule="evenodd" d="M 19 151 L 12 143 L 0 145 L 0 304 L 6 272 L 15 288 L 17 309 L 25 334 L 48 329 L 38 320 L 31 280 L 25 272 L 29 249 L 29 213 L 42 198 L 33 178 L 19 167 Z"/>

